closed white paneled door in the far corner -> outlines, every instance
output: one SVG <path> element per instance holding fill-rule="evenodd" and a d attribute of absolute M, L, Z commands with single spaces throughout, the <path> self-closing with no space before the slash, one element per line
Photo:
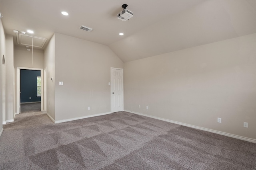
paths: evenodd
<path fill-rule="evenodd" d="M 124 110 L 124 70 L 111 68 L 111 111 Z"/>

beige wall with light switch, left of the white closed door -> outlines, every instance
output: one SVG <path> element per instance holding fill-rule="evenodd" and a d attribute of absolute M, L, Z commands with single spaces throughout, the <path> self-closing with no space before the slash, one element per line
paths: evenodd
<path fill-rule="evenodd" d="M 110 112 L 111 67 L 123 62 L 106 45 L 56 33 L 56 121 Z"/>

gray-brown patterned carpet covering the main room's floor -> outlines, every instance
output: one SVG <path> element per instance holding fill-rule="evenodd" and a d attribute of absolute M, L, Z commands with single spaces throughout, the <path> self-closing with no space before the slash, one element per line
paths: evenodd
<path fill-rule="evenodd" d="M 255 170 L 256 144 L 128 112 L 54 124 L 16 115 L 1 170 Z"/>

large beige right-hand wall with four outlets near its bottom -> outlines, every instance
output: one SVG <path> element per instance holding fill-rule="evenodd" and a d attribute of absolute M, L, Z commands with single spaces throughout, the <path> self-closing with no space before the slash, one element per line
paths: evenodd
<path fill-rule="evenodd" d="M 124 63 L 124 109 L 256 139 L 256 34 Z"/>

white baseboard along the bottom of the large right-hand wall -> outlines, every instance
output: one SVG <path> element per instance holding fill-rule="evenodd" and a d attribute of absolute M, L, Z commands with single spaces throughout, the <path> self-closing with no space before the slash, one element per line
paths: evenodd
<path fill-rule="evenodd" d="M 190 125 L 190 124 L 186 124 L 186 123 L 181 123 L 181 122 L 178 122 L 178 121 L 172 121 L 172 120 L 164 119 L 164 118 L 161 118 L 161 117 L 146 115 L 146 114 L 143 114 L 143 113 L 137 113 L 137 112 L 130 111 L 130 110 L 124 110 L 124 111 L 134 113 L 134 114 L 137 114 L 137 115 L 151 117 L 151 118 L 162 120 L 162 121 L 167 121 L 167 122 L 170 122 L 170 123 L 174 123 L 174 124 L 178 124 L 178 125 L 182 125 L 182 126 L 186 126 L 186 127 L 192 127 L 194 129 L 199 129 L 199 130 L 202 130 L 202 131 L 207 131 L 207 132 L 212 132 L 212 133 L 216 133 L 216 134 L 219 134 L 219 135 L 224 135 L 224 136 L 227 136 L 227 137 L 232 137 L 232 138 L 235 138 L 235 139 L 240 139 L 240 140 L 243 140 L 243 141 L 256 143 L 256 139 L 252 139 L 252 138 L 248 138 L 248 137 L 233 135 L 233 134 L 230 134 L 230 133 L 216 131 L 216 130 L 212 130 L 212 129 L 208 129 L 208 128 L 204 128 L 204 127 L 199 127 L 199 126 L 194 126 L 194 125 Z"/>

